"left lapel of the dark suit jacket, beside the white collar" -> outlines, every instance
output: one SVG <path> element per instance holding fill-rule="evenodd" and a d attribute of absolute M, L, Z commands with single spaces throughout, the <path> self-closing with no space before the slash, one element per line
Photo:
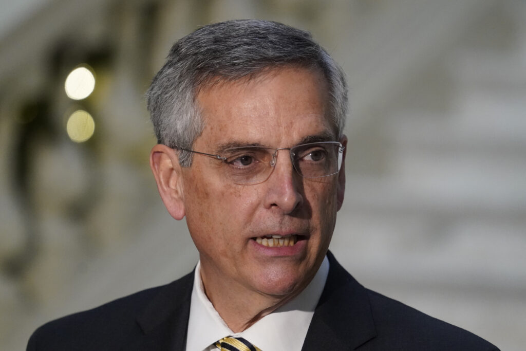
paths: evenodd
<path fill-rule="evenodd" d="M 194 273 L 163 287 L 137 316 L 138 332 L 123 350 L 173 350 L 186 347 Z"/>

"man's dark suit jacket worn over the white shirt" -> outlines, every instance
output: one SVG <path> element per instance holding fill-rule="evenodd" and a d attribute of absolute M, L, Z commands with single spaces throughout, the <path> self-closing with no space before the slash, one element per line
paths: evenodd
<path fill-rule="evenodd" d="M 309 350 L 498 350 L 487 341 L 361 286 L 331 253 L 309 326 Z M 194 275 L 38 328 L 27 350 L 184 350 Z M 275 350 L 264 350 L 275 351 Z"/>

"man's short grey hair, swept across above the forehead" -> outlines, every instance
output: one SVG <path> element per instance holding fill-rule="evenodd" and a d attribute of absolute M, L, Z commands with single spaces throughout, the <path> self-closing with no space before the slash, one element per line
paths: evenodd
<path fill-rule="evenodd" d="M 341 137 L 347 84 L 338 64 L 308 32 L 277 22 L 242 19 L 201 27 L 170 49 L 146 93 L 158 142 L 191 149 L 204 127 L 197 104 L 201 89 L 283 66 L 314 69 L 325 76 L 331 122 Z M 191 153 L 180 151 L 179 163 L 190 166 Z"/>

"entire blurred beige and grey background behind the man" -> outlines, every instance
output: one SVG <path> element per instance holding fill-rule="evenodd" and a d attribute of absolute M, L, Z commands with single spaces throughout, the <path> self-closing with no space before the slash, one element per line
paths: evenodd
<path fill-rule="evenodd" d="M 331 244 L 362 284 L 526 345 L 523 0 L 1 0 L 0 349 L 193 268 L 148 167 L 144 92 L 176 39 L 264 18 L 350 86 Z"/>

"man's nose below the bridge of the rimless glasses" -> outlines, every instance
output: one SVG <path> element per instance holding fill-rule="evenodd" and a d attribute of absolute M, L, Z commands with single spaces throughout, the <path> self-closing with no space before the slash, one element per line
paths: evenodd
<path fill-rule="evenodd" d="M 267 186 L 265 207 L 276 208 L 284 214 L 290 214 L 304 201 L 301 194 L 302 178 L 292 166 L 288 149 L 277 151 L 274 163 L 274 170 L 264 183 Z"/>

